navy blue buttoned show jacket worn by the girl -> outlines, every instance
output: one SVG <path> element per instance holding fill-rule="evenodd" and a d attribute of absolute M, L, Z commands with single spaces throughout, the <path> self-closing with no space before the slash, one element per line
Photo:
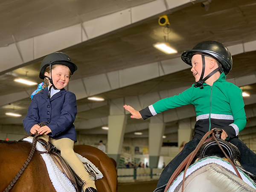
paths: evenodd
<path fill-rule="evenodd" d="M 73 122 L 76 118 L 76 95 L 65 89 L 48 98 L 48 88 L 33 96 L 28 113 L 23 119 L 23 126 L 27 133 L 40 122 L 47 125 L 53 139 L 70 138 L 76 142 L 76 130 Z"/>

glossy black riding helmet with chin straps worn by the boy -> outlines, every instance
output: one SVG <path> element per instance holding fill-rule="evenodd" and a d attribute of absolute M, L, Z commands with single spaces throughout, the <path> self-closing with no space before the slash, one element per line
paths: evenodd
<path fill-rule="evenodd" d="M 202 55 L 203 60 L 203 70 L 198 82 L 195 82 L 195 87 L 202 87 L 202 84 L 205 80 L 207 80 L 210 76 L 212 76 L 217 71 L 221 73 L 224 72 L 225 75 L 230 73 L 233 65 L 233 60 L 230 51 L 223 44 L 217 41 L 204 41 L 197 44 L 193 49 L 186 50 L 181 55 L 181 59 L 188 65 L 192 66 L 191 59 L 193 55 L 200 54 Z M 218 61 L 219 68 L 212 71 L 209 75 L 207 75 L 204 79 L 204 68 L 205 68 L 205 59 L 204 56 L 208 56 L 214 58 Z"/>

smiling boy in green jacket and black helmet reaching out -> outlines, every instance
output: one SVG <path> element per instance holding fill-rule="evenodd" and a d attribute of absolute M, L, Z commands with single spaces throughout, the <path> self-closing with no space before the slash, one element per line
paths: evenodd
<path fill-rule="evenodd" d="M 189 89 L 136 111 L 129 105 L 124 108 L 136 119 L 147 119 L 171 108 L 192 104 L 196 110 L 195 135 L 183 150 L 166 166 L 157 183 L 155 192 L 162 192 L 175 169 L 198 145 L 207 131 L 221 128 L 221 139 L 236 145 L 241 152 L 241 166 L 256 175 L 256 154 L 238 139 L 244 129 L 246 116 L 242 91 L 226 81 L 232 69 L 232 56 L 227 47 L 216 41 L 204 41 L 181 55 L 182 60 L 192 66 L 195 84 Z"/>

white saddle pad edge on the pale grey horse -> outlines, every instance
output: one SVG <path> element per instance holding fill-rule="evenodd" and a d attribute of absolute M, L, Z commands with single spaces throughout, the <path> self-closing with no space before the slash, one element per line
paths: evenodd
<path fill-rule="evenodd" d="M 217 164 L 219 166 L 224 167 L 225 169 L 229 170 L 230 172 L 233 172 L 236 175 L 236 171 L 234 170 L 234 168 L 230 165 L 229 162 L 218 158 L 218 157 L 207 157 L 204 158 L 196 163 L 194 163 L 192 166 L 189 167 L 189 169 L 187 169 L 186 171 L 186 178 L 191 175 L 193 172 L 195 172 L 196 170 L 200 169 L 203 166 L 207 166 L 209 164 Z M 251 186 L 253 189 L 256 189 L 256 185 L 253 182 L 253 180 L 251 180 L 246 174 L 244 174 L 244 172 L 239 170 L 239 173 L 243 179 L 243 181 L 245 183 L 247 183 L 249 186 Z M 175 181 L 172 183 L 172 186 L 169 188 L 168 192 L 174 192 L 176 187 L 182 183 L 183 181 L 183 175 L 184 172 L 181 172 L 181 174 L 175 179 Z"/>

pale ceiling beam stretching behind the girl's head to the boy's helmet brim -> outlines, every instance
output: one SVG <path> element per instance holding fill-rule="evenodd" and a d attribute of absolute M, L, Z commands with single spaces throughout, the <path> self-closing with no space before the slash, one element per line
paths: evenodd
<path fill-rule="evenodd" d="M 180 58 L 173 58 L 161 62 L 163 69 L 165 70 L 165 74 L 158 67 L 158 62 L 154 62 L 107 73 L 108 78 L 104 73 L 96 76 L 71 80 L 67 90 L 75 93 L 76 99 L 79 100 L 189 68 L 189 65 L 184 64 Z M 29 92 L 32 93 L 32 90 Z M 30 95 L 26 94 L 25 91 L 0 96 L 0 106 L 26 99 L 29 96 Z M 8 101 L 5 98 L 9 98 Z"/>

